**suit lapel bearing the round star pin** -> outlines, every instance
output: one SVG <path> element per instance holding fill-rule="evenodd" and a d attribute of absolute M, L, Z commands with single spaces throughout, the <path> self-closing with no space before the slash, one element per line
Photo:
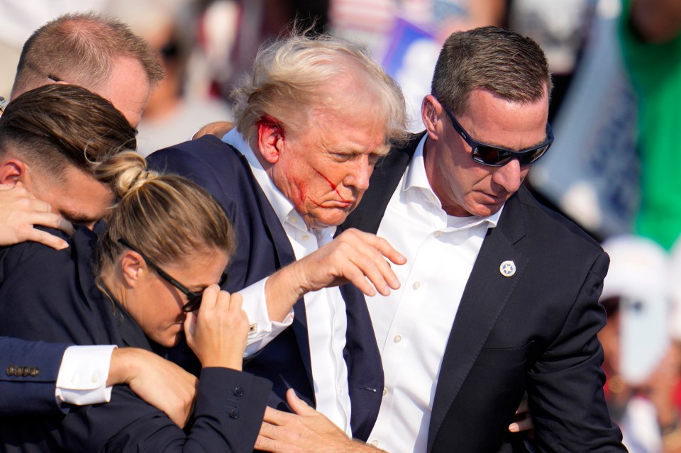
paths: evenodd
<path fill-rule="evenodd" d="M 489 332 L 523 277 L 527 257 L 514 244 L 524 235 L 524 216 L 516 194 L 506 202 L 497 227 L 487 230 L 461 297 L 438 376 L 428 429 L 428 452 Z M 500 265 L 506 260 L 516 266 L 513 276 L 506 277 L 500 272 Z"/>

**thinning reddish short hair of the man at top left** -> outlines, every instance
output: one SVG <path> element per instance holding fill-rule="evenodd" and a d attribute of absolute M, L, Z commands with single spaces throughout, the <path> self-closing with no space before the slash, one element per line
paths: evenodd
<path fill-rule="evenodd" d="M 125 24 L 97 13 L 68 13 L 45 23 L 23 45 L 12 93 L 43 85 L 48 77 L 94 87 L 119 57 L 140 62 L 151 86 L 163 78 L 157 52 Z"/>

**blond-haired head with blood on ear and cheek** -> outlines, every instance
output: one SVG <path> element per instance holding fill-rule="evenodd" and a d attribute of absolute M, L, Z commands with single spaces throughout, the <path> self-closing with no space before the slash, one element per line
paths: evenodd
<path fill-rule="evenodd" d="M 234 98 L 238 130 L 309 228 L 345 220 L 406 130 L 397 84 L 360 47 L 326 35 L 260 49 Z"/>

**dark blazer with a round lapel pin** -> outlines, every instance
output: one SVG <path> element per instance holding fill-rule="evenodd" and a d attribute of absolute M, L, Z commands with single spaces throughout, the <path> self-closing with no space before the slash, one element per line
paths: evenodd
<path fill-rule="evenodd" d="M 376 233 L 423 135 L 377 165 L 343 229 Z M 499 266 L 516 264 L 511 277 Z M 489 228 L 442 360 L 428 452 L 496 452 L 524 393 L 541 452 L 626 451 L 602 386 L 609 258 L 576 225 L 521 188 Z M 443 295 L 444 297 L 444 295 Z M 513 436 L 504 448 L 522 449 Z"/>

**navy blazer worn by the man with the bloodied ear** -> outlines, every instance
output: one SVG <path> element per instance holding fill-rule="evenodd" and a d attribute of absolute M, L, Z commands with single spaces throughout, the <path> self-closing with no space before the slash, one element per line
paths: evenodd
<path fill-rule="evenodd" d="M 208 190 L 236 228 L 238 247 L 228 269 L 227 291 L 239 291 L 294 262 L 291 243 L 248 161 L 230 145 L 207 135 L 160 150 L 148 157 L 150 167 L 182 174 Z M 380 408 L 383 371 L 364 296 L 355 286 L 341 287 L 348 316 L 344 350 L 348 365 L 350 425 L 366 440 Z M 314 321 L 313 321 L 314 322 Z M 287 410 L 287 388 L 315 406 L 308 320 L 303 300 L 294 306 L 293 325 L 244 365 L 246 371 L 272 381 L 270 406 Z M 333 385 L 333 384 L 329 384 Z"/>

